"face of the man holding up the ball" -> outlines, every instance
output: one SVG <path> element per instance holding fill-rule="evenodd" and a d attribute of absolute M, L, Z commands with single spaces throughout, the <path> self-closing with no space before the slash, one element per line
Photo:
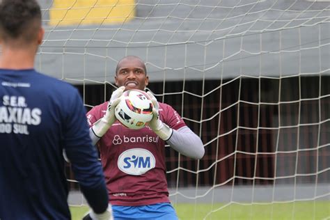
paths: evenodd
<path fill-rule="evenodd" d="M 116 72 L 116 86 L 125 86 L 125 91 L 129 89 L 144 90 L 148 86 L 148 76 L 144 70 L 145 66 L 138 58 L 123 59 L 118 64 Z"/>

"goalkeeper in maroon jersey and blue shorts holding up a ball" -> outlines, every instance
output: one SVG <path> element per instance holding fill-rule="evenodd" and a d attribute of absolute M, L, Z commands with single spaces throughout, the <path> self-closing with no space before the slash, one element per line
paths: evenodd
<path fill-rule="evenodd" d="M 201 139 L 187 127 L 168 104 L 154 104 L 149 125 L 139 130 L 123 127 L 114 109 L 123 91 L 148 86 L 146 65 L 136 56 L 126 56 L 116 68 L 116 89 L 109 102 L 87 113 L 93 143 L 100 150 L 101 162 L 116 219 L 178 219 L 169 199 L 164 159 L 165 143 L 194 159 L 201 159 Z"/>

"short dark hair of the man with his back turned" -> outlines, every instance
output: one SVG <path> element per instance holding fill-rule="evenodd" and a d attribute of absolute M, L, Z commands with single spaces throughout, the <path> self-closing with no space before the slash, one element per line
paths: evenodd
<path fill-rule="evenodd" d="M 0 0 L 0 38 L 35 39 L 41 26 L 41 10 L 36 0 Z"/>

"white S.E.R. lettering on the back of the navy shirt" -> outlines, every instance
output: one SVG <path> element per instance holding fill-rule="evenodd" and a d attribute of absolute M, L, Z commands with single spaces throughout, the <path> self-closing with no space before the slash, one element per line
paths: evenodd
<path fill-rule="evenodd" d="M 28 108 L 25 97 L 3 95 L 0 107 L 0 133 L 29 134 L 28 125 L 41 123 L 42 111 Z"/>

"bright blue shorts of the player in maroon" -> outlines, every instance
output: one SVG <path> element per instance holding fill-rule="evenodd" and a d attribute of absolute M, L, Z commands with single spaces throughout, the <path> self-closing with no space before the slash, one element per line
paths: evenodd
<path fill-rule="evenodd" d="M 171 203 L 141 206 L 112 205 L 112 210 L 115 220 L 178 220 Z"/>

